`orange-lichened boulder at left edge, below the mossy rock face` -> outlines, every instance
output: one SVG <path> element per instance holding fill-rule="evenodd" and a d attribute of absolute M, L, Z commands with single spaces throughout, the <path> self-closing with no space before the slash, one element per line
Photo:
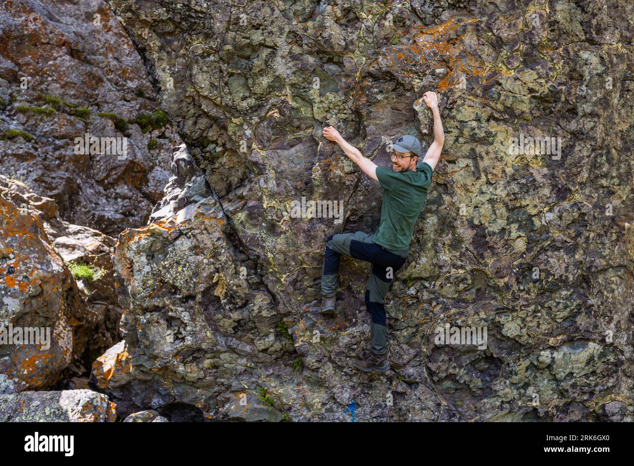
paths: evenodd
<path fill-rule="evenodd" d="M 96 356 L 119 341 L 113 239 L 64 222 L 53 199 L 2 175 L 0 192 L 0 331 L 43 329 L 40 344 L 2 341 L 0 393 L 46 389 L 64 375 L 83 374 Z M 65 240 L 61 254 L 51 241 L 60 238 Z M 103 277 L 89 284 L 100 292 L 87 292 L 81 281 L 77 286 L 68 267 L 76 260 L 105 267 L 98 269 Z"/>

